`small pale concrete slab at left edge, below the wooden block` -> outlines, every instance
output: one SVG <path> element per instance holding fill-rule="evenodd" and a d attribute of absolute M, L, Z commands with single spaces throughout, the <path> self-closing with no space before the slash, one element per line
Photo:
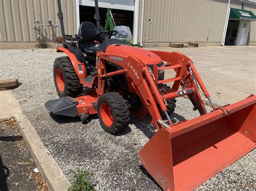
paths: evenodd
<path fill-rule="evenodd" d="M 11 90 L 0 91 L 0 103 L 0 120 L 22 113 Z"/>

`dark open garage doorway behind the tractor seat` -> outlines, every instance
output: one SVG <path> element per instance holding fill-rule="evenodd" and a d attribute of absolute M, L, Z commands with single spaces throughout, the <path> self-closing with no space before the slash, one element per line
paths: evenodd
<path fill-rule="evenodd" d="M 105 26 L 107 8 L 99 8 L 100 25 Z M 131 32 L 133 30 L 133 11 L 111 9 L 114 22 L 116 26 L 124 25 L 129 26 Z M 96 24 L 95 8 L 93 6 L 79 5 L 79 18 L 80 23 L 87 21 Z"/>

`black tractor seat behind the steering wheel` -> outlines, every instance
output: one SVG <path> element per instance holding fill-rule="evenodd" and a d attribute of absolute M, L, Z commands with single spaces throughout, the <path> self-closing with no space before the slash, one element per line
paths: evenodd
<path fill-rule="evenodd" d="M 99 51 L 100 44 L 94 43 L 95 40 L 101 42 L 100 38 L 97 37 L 99 33 L 95 24 L 91 22 L 83 22 L 80 24 L 78 35 L 83 39 L 78 40 L 79 48 L 85 54 L 96 54 Z"/>

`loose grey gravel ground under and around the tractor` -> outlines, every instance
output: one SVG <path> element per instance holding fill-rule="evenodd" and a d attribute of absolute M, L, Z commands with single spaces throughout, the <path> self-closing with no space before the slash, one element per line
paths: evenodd
<path fill-rule="evenodd" d="M 44 103 L 58 97 L 52 77 L 53 61 L 65 54 L 52 49 L 27 49 L 1 50 L 0 55 L 0 79 L 18 77 L 22 84 L 13 92 L 70 181 L 69 169 L 80 168 L 92 172 L 90 180 L 96 189 L 160 189 L 138 158 L 140 148 L 156 132 L 149 125 L 150 118 L 132 118 L 125 132 L 113 136 L 100 127 L 96 116 L 83 124 L 79 118 L 49 115 Z M 179 121 L 198 116 L 185 98 L 178 98 L 177 106 L 174 117 Z M 198 188 L 255 189 L 255 159 L 254 150 Z"/>

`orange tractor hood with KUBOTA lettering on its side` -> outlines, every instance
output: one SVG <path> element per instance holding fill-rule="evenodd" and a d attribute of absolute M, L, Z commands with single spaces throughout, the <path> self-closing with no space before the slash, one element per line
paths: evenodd
<path fill-rule="evenodd" d="M 128 46 L 128 45 L 109 45 L 106 49 L 106 53 L 110 54 L 118 54 L 118 55 L 124 55 L 124 56 L 134 56 L 138 60 L 142 61 L 146 65 L 150 64 L 157 64 L 163 62 L 161 58 L 143 48 L 137 48 L 134 46 Z"/>

